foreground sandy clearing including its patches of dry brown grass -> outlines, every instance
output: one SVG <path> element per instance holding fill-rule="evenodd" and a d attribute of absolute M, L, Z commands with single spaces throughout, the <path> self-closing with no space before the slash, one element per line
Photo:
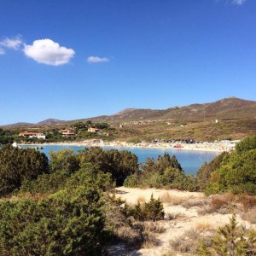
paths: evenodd
<path fill-rule="evenodd" d="M 153 193 L 154 197 L 160 197 L 165 208 L 164 220 L 138 224 L 143 226 L 141 247 L 133 250 L 130 247 L 119 255 L 127 252 L 147 256 L 196 255 L 201 238 L 210 244 L 218 227 L 229 224 L 233 213 L 243 229 L 256 227 L 255 196 L 226 193 L 206 197 L 202 193 L 164 189 L 119 188 L 119 191 L 123 193 L 118 196 L 130 203 L 148 201 Z M 135 236 L 129 230 L 120 231 L 126 238 Z"/>

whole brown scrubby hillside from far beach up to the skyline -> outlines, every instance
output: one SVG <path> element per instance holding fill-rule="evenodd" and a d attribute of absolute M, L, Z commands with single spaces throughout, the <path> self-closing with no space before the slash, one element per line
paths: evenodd
<path fill-rule="evenodd" d="M 113 115 L 87 119 L 46 119 L 38 124 L 17 123 L 3 128 L 48 131 L 67 128 L 74 122 L 107 122 L 110 137 L 123 141 L 153 138 L 189 138 L 195 140 L 240 139 L 256 134 L 256 102 L 236 97 L 218 102 L 191 104 L 167 109 L 126 108 Z M 119 125 L 122 124 L 122 128 Z"/>

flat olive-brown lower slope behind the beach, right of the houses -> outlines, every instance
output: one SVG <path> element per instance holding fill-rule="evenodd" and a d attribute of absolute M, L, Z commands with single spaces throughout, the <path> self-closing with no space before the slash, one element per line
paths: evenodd
<path fill-rule="evenodd" d="M 167 123 L 171 125 L 167 125 Z M 238 139 L 252 136 L 256 132 L 256 119 L 227 119 L 221 120 L 218 124 L 213 124 L 212 119 L 193 122 L 167 119 L 141 125 L 127 122 L 123 128 L 119 128 L 119 125 L 114 123 L 112 125 L 116 129 L 113 131 L 113 137 L 128 142 L 153 138 L 191 138 L 203 141 Z"/>

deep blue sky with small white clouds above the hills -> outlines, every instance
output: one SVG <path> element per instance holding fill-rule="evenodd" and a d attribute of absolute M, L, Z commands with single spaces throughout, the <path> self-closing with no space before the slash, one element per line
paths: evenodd
<path fill-rule="evenodd" d="M 0 125 L 256 100 L 255 0 L 1 0 Z"/>

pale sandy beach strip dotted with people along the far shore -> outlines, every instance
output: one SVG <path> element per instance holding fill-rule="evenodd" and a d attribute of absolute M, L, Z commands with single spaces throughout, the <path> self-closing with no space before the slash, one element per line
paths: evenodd
<path fill-rule="evenodd" d="M 74 146 L 74 147 L 116 147 L 116 148 L 158 148 L 158 149 L 176 149 L 177 151 L 182 150 L 191 150 L 191 151 L 205 151 L 205 152 L 224 152 L 230 151 L 233 148 L 231 143 L 196 143 L 196 144 L 187 144 L 187 143 L 125 143 L 125 142 L 95 142 L 93 140 L 84 141 L 84 142 L 66 142 L 66 143 L 42 143 L 42 144 L 26 144 L 20 143 L 20 146 Z M 175 148 L 175 146 L 180 145 L 180 148 Z"/>

